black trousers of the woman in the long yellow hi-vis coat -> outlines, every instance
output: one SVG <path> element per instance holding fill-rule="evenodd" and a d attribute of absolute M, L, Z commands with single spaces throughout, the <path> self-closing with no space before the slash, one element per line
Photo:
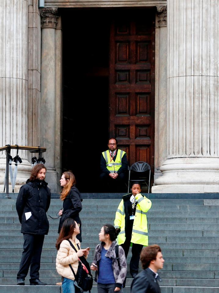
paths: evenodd
<path fill-rule="evenodd" d="M 123 244 L 120 244 L 125 251 L 126 258 L 129 253 L 131 238 L 132 238 L 132 235 L 128 235 L 126 237 L 125 242 Z M 130 274 L 132 275 L 132 277 L 133 277 L 133 274 L 135 275 L 138 273 L 140 253 L 142 251 L 142 248 L 143 248 L 143 245 L 141 244 L 135 244 L 135 243 L 132 244 L 132 257 L 130 260 Z"/>

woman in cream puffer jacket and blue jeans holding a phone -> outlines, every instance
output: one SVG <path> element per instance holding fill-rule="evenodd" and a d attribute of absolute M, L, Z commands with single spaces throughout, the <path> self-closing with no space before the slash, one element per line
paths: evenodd
<path fill-rule="evenodd" d="M 89 249 L 79 249 L 80 242 L 76 236 L 80 233 L 78 224 L 72 218 L 67 218 L 60 231 L 59 238 L 56 243 L 56 248 L 58 249 L 56 258 L 56 269 L 57 272 L 63 277 L 62 280 L 62 291 L 63 293 L 75 293 L 74 286 L 74 274 L 71 271 L 69 264 L 71 264 L 75 274 L 78 270 L 78 257 L 84 256 L 87 258 L 89 254 Z M 76 251 L 71 247 L 68 239 L 72 242 Z"/>

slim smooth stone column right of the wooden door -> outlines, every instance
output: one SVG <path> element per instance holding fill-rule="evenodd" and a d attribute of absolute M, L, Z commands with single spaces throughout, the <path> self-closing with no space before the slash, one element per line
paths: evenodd
<path fill-rule="evenodd" d="M 155 180 L 162 176 L 160 166 L 167 158 L 166 43 L 166 5 L 157 6 L 155 26 Z"/>

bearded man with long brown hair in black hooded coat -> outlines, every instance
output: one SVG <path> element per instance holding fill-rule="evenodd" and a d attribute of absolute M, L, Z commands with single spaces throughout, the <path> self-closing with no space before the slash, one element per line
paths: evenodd
<path fill-rule="evenodd" d="M 44 236 L 49 231 L 46 212 L 49 209 L 51 193 L 44 181 L 46 167 L 33 167 L 26 184 L 21 186 L 16 200 L 16 210 L 24 235 L 24 250 L 17 273 L 17 285 L 24 285 L 30 267 L 30 285 L 46 285 L 39 280 L 40 258 Z"/>

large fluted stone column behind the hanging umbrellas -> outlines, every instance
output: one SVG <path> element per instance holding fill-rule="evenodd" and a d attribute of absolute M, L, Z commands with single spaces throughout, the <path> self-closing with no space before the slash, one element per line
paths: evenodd
<path fill-rule="evenodd" d="M 0 146 L 27 145 L 27 0 L 2 0 L 0 11 Z M 27 151 L 18 154 L 23 162 L 18 165 L 15 192 L 31 172 Z M 11 155 L 14 157 L 16 151 Z M 0 152 L 0 192 L 5 158 L 5 152 Z"/>

